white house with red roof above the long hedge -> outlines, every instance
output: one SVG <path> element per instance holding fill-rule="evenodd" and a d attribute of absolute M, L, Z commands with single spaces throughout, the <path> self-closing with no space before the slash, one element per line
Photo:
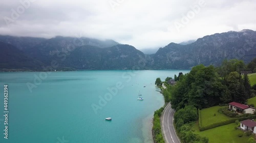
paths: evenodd
<path fill-rule="evenodd" d="M 251 113 L 251 114 L 253 114 L 254 111 L 256 110 L 256 108 L 254 108 L 254 107 L 250 107 L 248 105 L 241 104 L 238 102 L 229 103 L 229 108 L 234 111 L 241 112 L 241 113 Z"/>

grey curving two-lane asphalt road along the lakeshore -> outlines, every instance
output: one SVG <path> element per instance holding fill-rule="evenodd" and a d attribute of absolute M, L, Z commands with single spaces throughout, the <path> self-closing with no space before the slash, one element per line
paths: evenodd
<path fill-rule="evenodd" d="M 172 109 L 171 105 L 168 104 L 161 117 L 161 127 L 166 143 L 180 143 L 173 126 L 174 112 L 174 109 Z"/>

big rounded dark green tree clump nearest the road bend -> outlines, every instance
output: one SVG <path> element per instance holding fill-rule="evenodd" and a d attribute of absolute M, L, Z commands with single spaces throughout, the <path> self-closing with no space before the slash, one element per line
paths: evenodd
<path fill-rule="evenodd" d="M 172 107 L 176 110 L 186 105 L 197 108 L 214 106 L 221 102 L 223 85 L 214 66 L 198 65 L 190 73 L 181 76 L 172 90 Z"/>

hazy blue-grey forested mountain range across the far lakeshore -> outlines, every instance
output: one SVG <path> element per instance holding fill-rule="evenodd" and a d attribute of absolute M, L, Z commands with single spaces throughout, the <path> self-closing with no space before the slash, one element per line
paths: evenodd
<path fill-rule="evenodd" d="M 170 43 L 154 54 L 113 40 L 62 36 L 0 36 L 0 48 L 2 70 L 41 71 L 53 63 L 56 70 L 190 69 L 198 64 L 220 65 L 224 59 L 250 62 L 256 57 L 256 32 L 230 31 Z"/>

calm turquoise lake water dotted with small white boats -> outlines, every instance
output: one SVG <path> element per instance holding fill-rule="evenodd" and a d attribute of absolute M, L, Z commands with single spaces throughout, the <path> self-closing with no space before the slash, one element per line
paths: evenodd
<path fill-rule="evenodd" d="M 164 105 L 155 80 L 179 72 L 189 70 L 0 73 L 0 142 L 153 142 L 153 114 Z M 137 100 L 139 92 L 143 101 Z"/>

